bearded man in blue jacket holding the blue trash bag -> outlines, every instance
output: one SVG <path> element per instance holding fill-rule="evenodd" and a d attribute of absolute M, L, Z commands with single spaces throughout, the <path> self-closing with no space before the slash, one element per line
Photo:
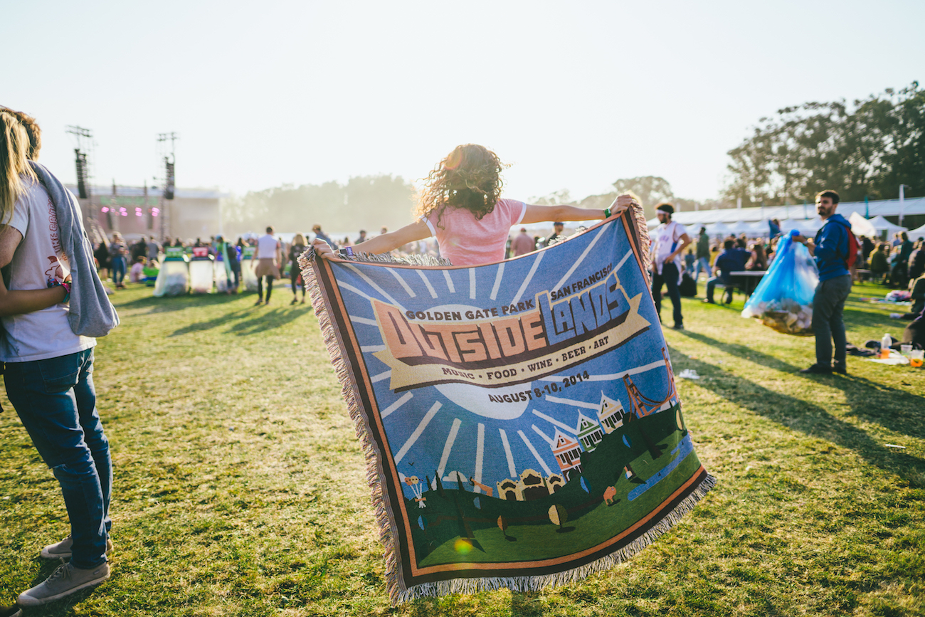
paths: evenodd
<path fill-rule="evenodd" d="M 815 240 L 794 236 L 794 241 L 806 244 L 809 254 L 819 267 L 819 285 L 812 299 L 812 329 L 816 335 L 816 364 L 800 373 L 828 375 L 833 371 L 845 375 L 845 300 L 851 292 L 851 274 L 848 272 L 848 233 L 851 224 L 844 216 L 835 214 L 838 193 L 821 191 L 816 195 L 816 212 L 825 225 Z M 833 364 L 833 342 L 835 345 Z"/>

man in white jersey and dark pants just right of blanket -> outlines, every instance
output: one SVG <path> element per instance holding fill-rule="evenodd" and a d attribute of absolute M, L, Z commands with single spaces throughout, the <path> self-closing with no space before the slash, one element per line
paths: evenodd
<path fill-rule="evenodd" d="M 668 297 L 672 299 L 674 307 L 674 329 L 683 330 L 684 316 L 681 315 L 681 292 L 678 284 L 681 282 L 681 255 L 691 243 L 690 236 L 684 225 L 672 221 L 674 206 L 672 204 L 659 204 L 656 216 L 660 225 L 651 232 L 652 237 L 652 299 L 661 321 L 661 286 L 668 288 Z"/>

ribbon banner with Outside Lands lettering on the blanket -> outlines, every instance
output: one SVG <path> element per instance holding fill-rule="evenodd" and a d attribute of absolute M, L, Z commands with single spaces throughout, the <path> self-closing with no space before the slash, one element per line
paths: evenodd
<path fill-rule="evenodd" d="M 649 322 L 639 315 L 642 294 L 629 298 L 611 269 L 608 265 L 561 290 L 537 293 L 532 310 L 519 311 L 511 304 L 498 316 L 491 309 L 465 311 L 487 317 L 470 321 L 457 320 L 462 311 L 430 311 L 440 315 L 436 323 L 410 321 L 407 315 L 416 312 L 371 301 L 385 343 L 375 355 L 392 370 L 390 389 L 440 383 L 509 386 L 619 347 Z M 510 315 L 511 309 L 517 312 Z"/>

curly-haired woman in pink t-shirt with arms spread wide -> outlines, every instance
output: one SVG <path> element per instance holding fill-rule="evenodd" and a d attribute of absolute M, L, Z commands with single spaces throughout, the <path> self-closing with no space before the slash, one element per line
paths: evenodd
<path fill-rule="evenodd" d="M 491 264 L 504 259 L 505 243 L 514 225 L 598 220 L 635 203 L 633 197 L 621 195 L 617 198 L 617 209 L 611 212 L 610 208 L 589 210 L 501 199 L 503 167 L 498 154 L 485 146 L 475 143 L 457 146 L 427 175 L 415 212 L 416 221 L 341 251 L 388 253 L 408 242 L 434 236 L 440 254 L 452 265 Z M 319 256 L 334 256 L 326 241 L 315 238 L 312 245 Z"/>

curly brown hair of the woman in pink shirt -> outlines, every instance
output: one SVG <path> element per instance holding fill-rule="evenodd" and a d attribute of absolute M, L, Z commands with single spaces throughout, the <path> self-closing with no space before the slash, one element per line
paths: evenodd
<path fill-rule="evenodd" d="M 501 163 L 498 154 L 485 146 L 466 143 L 456 146 L 440 161 L 425 180 L 424 191 L 414 208 L 415 216 L 437 212 L 440 216 L 448 208 L 465 208 L 481 220 L 491 214 L 501 198 Z"/>

